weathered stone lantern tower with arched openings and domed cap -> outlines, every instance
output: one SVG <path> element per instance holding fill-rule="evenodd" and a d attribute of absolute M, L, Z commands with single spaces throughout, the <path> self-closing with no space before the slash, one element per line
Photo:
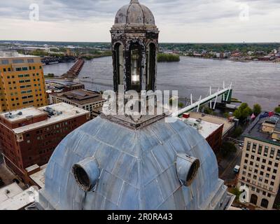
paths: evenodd
<path fill-rule="evenodd" d="M 111 29 L 114 90 L 155 90 L 158 28 L 150 9 L 138 0 L 118 10 Z"/>

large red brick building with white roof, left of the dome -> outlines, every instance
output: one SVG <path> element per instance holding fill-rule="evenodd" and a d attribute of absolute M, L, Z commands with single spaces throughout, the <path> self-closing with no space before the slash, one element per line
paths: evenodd
<path fill-rule="evenodd" d="M 89 118 L 88 111 L 64 103 L 1 113 L 0 140 L 6 167 L 27 183 L 26 169 L 45 165 L 60 141 Z"/>

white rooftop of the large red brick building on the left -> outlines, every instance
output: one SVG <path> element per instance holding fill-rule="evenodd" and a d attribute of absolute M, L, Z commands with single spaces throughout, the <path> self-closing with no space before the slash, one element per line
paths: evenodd
<path fill-rule="evenodd" d="M 47 110 L 49 111 L 49 113 L 46 112 Z M 20 112 L 22 112 L 22 115 L 20 115 Z M 6 118 L 8 120 L 11 119 L 11 121 L 22 120 L 25 118 L 31 118 L 31 117 L 34 117 L 36 115 L 41 115 L 41 114 L 48 114 L 48 116 L 49 116 L 48 120 L 43 120 L 38 123 L 33 123 L 31 125 L 26 125 L 23 127 L 18 127 L 18 128 L 13 129 L 13 132 L 15 132 L 15 134 L 20 134 L 23 132 L 28 132 L 30 130 L 37 129 L 38 127 L 55 124 L 55 123 L 61 122 L 62 120 L 76 118 L 77 116 L 82 116 L 82 115 L 88 114 L 89 112 L 85 111 L 83 109 L 79 109 L 76 106 L 71 106 L 71 105 L 65 104 L 65 103 L 59 103 L 59 104 L 53 104 L 53 105 L 49 105 L 49 106 L 43 106 L 38 109 L 31 107 L 31 108 L 27 108 L 27 109 L 18 110 L 18 111 L 12 111 L 11 113 L 17 114 L 15 116 L 15 118 Z M 5 118 L 6 114 L 9 114 L 9 113 L 2 113 L 2 114 L 0 114 L 0 116 Z"/>

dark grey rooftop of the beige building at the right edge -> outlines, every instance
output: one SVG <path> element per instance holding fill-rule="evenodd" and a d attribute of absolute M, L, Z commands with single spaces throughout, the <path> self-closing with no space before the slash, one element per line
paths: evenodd
<path fill-rule="evenodd" d="M 272 139 L 272 134 L 262 132 L 263 123 L 266 123 L 268 125 L 275 125 L 276 127 L 275 130 L 278 130 L 280 127 L 279 120 L 280 120 L 280 114 L 278 113 L 268 113 L 268 112 L 260 113 L 260 115 L 257 118 L 255 118 L 253 123 L 251 123 L 251 125 L 249 125 L 249 127 L 245 130 L 243 135 L 244 137 L 256 139 L 259 141 L 265 141 L 268 144 L 274 144 L 276 146 L 280 146 L 279 141 L 274 141 Z"/>

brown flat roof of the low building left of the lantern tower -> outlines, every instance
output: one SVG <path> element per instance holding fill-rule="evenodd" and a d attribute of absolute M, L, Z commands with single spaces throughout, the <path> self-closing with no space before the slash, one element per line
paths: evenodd
<path fill-rule="evenodd" d="M 104 100 L 102 98 L 102 94 L 83 89 L 71 90 L 69 92 L 63 93 L 54 93 L 51 95 L 59 97 L 59 99 L 66 99 L 80 105 L 90 104 L 92 102 L 100 102 Z"/>

